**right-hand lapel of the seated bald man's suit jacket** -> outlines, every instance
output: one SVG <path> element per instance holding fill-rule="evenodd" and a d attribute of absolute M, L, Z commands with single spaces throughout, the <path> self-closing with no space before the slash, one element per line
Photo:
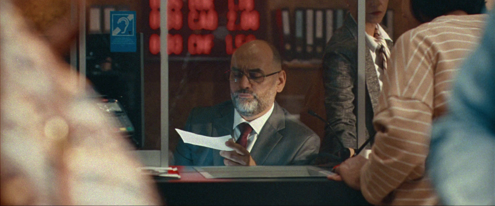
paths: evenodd
<path fill-rule="evenodd" d="M 272 114 L 261 128 L 258 138 L 251 149 L 251 157 L 256 162 L 256 165 L 263 165 L 273 148 L 282 139 L 282 135 L 278 131 L 285 128 L 284 111 L 277 102 L 273 107 Z"/>

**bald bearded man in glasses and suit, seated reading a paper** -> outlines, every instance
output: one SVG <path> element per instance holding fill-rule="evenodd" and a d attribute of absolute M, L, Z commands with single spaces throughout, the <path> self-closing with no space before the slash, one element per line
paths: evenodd
<path fill-rule="evenodd" d="M 185 130 L 211 137 L 232 135 L 220 151 L 177 145 L 175 165 L 305 165 L 318 153 L 319 137 L 275 102 L 284 89 L 280 54 L 266 41 L 249 41 L 232 55 L 231 100 L 194 108 Z"/>

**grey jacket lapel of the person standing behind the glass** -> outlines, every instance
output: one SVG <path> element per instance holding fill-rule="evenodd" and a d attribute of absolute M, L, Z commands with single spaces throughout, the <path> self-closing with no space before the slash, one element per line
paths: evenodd
<path fill-rule="evenodd" d="M 366 45 L 366 87 L 371 99 L 371 106 L 373 107 L 373 113 L 378 112 L 378 96 L 380 95 L 380 83 L 378 82 L 378 75 L 376 74 L 375 63 L 371 57 L 371 51 Z"/>

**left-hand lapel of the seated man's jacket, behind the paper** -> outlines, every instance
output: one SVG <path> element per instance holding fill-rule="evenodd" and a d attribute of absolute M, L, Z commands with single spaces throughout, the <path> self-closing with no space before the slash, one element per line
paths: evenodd
<path fill-rule="evenodd" d="M 220 111 L 221 117 L 213 120 L 211 128 L 212 137 L 220 137 L 232 134 L 232 124 L 234 124 L 234 107 L 226 107 Z M 220 151 L 211 149 L 213 156 L 213 165 L 224 165 L 223 157 L 220 156 Z"/>

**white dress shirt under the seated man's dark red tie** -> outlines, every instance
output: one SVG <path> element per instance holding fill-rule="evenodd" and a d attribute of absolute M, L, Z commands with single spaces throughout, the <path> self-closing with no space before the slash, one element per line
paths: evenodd
<path fill-rule="evenodd" d="M 253 120 L 251 122 L 247 122 L 243 117 L 241 117 L 239 112 L 237 112 L 237 110 L 234 109 L 234 124 L 232 126 L 232 128 L 234 129 L 234 131 L 232 132 L 233 133 L 232 136 L 234 137 L 234 141 L 237 141 L 237 139 L 239 139 L 239 136 L 241 136 L 241 130 L 239 129 L 239 127 L 237 125 L 239 125 L 241 123 L 249 124 L 252 127 L 252 131 L 247 136 L 246 149 L 247 149 L 247 151 L 251 152 L 252 146 L 254 145 L 254 142 L 256 142 L 256 139 L 258 138 L 258 134 L 261 131 L 261 128 L 263 128 L 263 125 L 265 125 L 265 123 L 268 120 L 268 118 L 270 117 L 270 115 L 272 115 L 273 106 L 274 106 L 274 104 L 272 104 L 272 107 L 270 108 L 270 110 L 267 113 L 265 113 L 261 117 L 256 118 L 255 120 Z"/>

